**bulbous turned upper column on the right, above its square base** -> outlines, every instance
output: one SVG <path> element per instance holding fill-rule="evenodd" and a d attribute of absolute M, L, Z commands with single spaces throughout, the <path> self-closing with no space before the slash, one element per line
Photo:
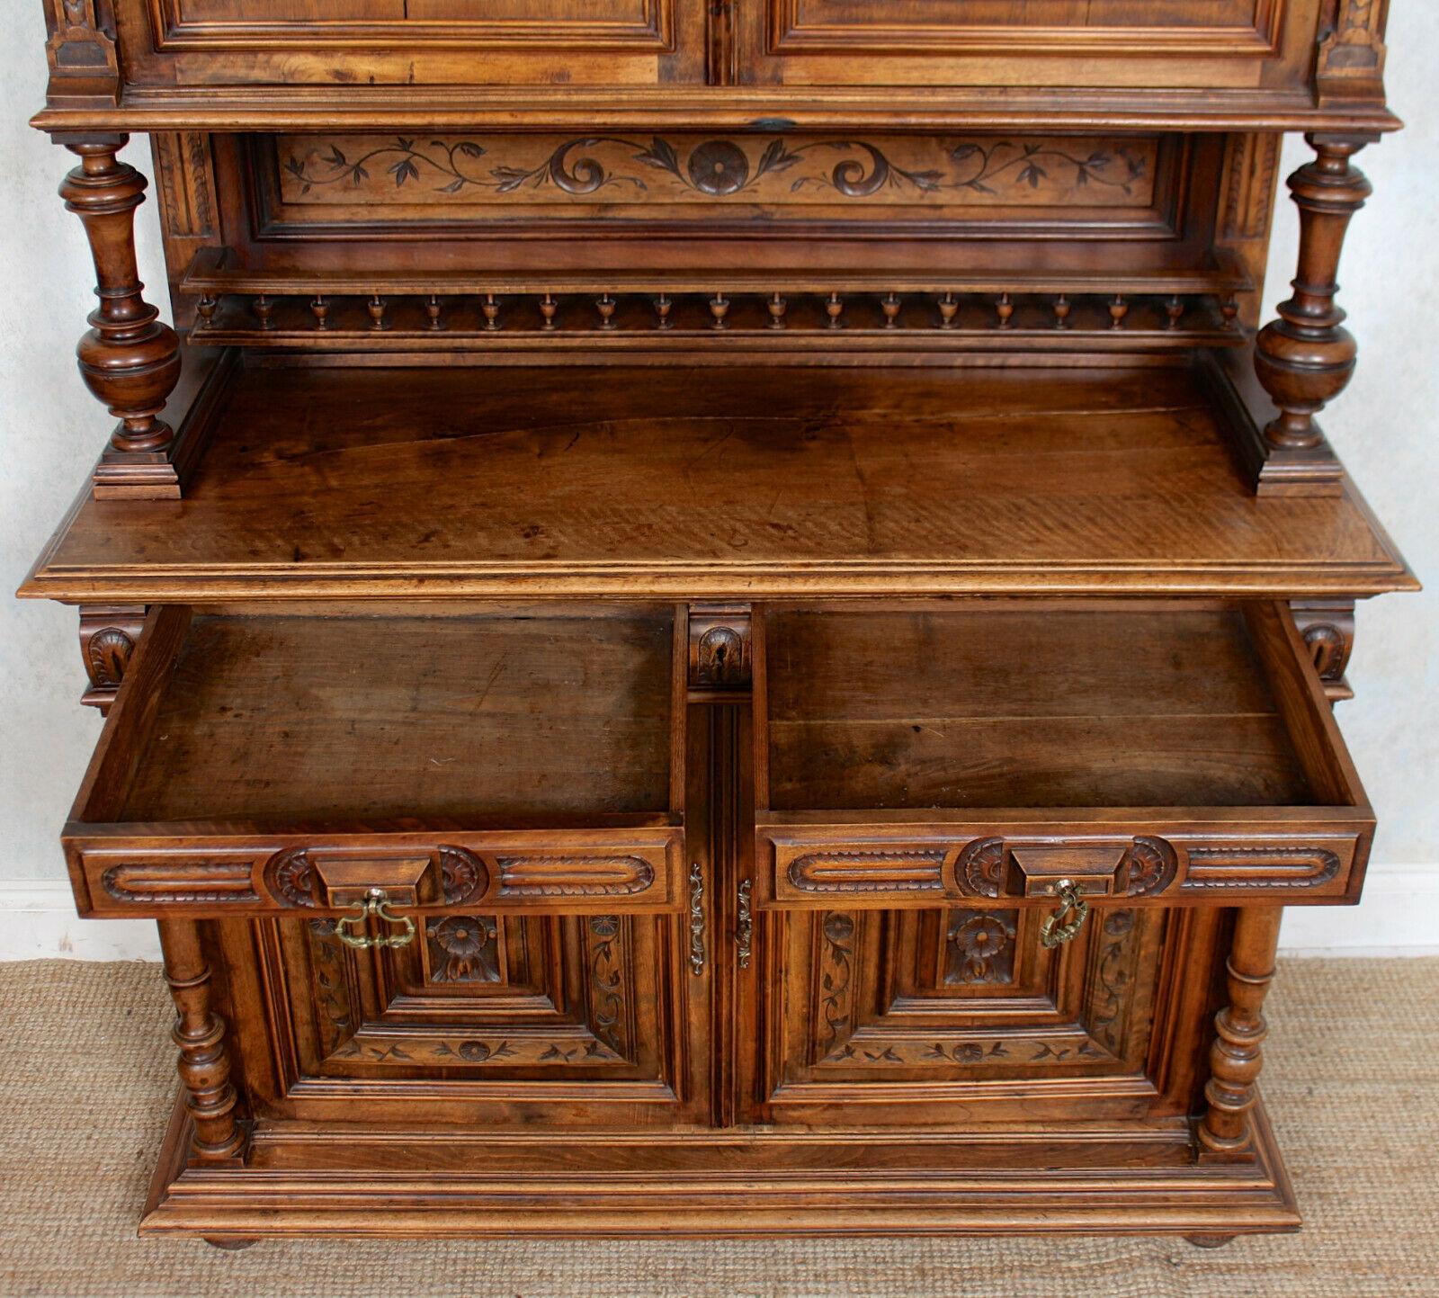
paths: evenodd
<path fill-rule="evenodd" d="M 1255 370 L 1279 407 L 1265 429 L 1274 446 L 1304 449 L 1320 443 L 1314 416 L 1348 386 L 1358 347 L 1341 328 L 1338 292 L 1340 253 L 1354 213 L 1371 187 L 1350 158 L 1367 141 L 1307 135 L 1317 157 L 1289 177 L 1299 209 L 1299 271 L 1294 296 L 1278 307 L 1279 319 L 1259 331 Z"/>

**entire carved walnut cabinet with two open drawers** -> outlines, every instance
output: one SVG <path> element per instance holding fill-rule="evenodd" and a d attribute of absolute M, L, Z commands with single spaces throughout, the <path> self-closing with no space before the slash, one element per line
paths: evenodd
<path fill-rule="evenodd" d="M 1386 0 L 43 3 L 142 1230 L 1298 1226 Z"/>

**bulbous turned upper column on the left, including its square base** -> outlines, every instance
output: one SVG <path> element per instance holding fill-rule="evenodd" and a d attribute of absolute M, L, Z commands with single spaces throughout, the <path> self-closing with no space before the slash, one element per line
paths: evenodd
<path fill-rule="evenodd" d="M 119 420 L 95 471 L 95 494 L 178 496 L 168 462 L 173 433 L 158 416 L 180 377 L 180 340 L 144 299 L 134 213 L 147 181 L 117 158 L 128 138 L 62 137 L 81 164 L 65 177 L 60 197 L 85 224 L 99 298 L 76 355 L 86 386 Z"/>

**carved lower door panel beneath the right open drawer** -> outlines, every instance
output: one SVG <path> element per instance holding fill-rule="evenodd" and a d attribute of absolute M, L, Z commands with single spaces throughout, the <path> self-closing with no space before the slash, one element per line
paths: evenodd
<path fill-rule="evenodd" d="M 1122 1120 L 1191 1102 L 1160 996 L 1215 915 L 1097 911 L 1065 947 L 1035 908 L 771 911 L 761 917 L 750 1115 L 774 1124 Z M 1200 967 L 1200 966 L 1194 966 Z M 1160 1019 L 1156 1006 L 1163 1006 Z M 1179 1036 L 1187 1036 L 1180 1032 Z"/>

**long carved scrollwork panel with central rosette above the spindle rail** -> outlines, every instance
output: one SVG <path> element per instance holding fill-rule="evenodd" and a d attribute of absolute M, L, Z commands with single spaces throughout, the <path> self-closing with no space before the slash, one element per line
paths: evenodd
<path fill-rule="evenodd" d="M 1108 135 L 327 134 L 281 135 L 273 150 L 266 180 L 285 209 L 420 217 L 637 204 L 650 220 L 725 207 L 1141 212 L 1160 200 L 1163 170 L 1157 137 Z"/>

